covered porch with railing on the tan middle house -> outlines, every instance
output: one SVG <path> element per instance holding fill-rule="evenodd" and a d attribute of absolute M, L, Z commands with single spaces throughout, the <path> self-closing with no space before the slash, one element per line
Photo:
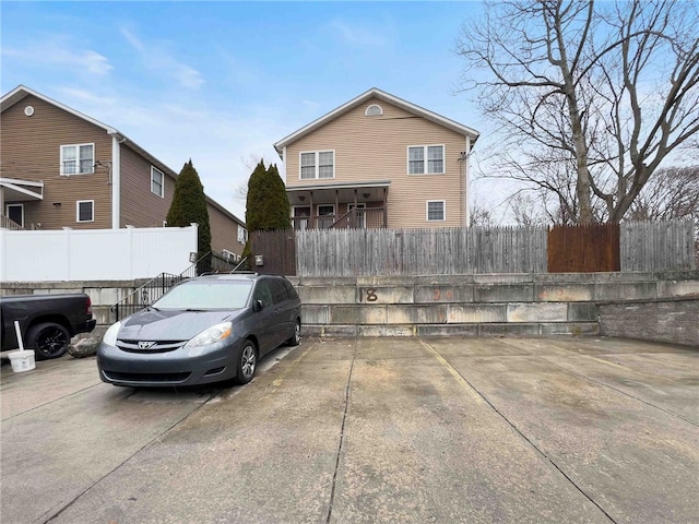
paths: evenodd
<path fill-rule="evenodd" d="M 287 187 L 294 229 L 386 228 L 390 181 Z"/>

